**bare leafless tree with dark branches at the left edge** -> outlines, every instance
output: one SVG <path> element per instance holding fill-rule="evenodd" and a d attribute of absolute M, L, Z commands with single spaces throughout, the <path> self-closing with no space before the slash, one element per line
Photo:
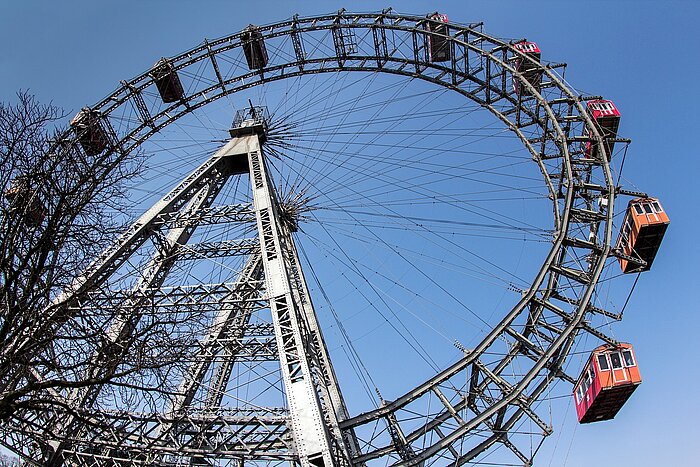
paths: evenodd
<path fill-rule="evenodd" d="M 107 133 L 95 140 L 78 134 L 80 127 L 55 130 L 64 117 L 27 92 L 14 104 L 0 103 L 0 439 L 6 444 L 65 429 L 66 417 L 98 424 L 76 410 L 96 403 L 98 387 L 109 386 L 110 404 L 119 408 L 144 403 L 128 400 L 128 391 L 114 402 L 124 388 L 172 392 L 163 386 L 173 371 L 168 363 L 192 343 L 185 333 L 172 333 L 192 314 L 148 309 L 117 343 L 109 341 L 110 323 L 134 316 L 124 311 L 127 303 L 134 308 L 134 297 L 105 292 L 108 306 L 87 313 L 76 301 L 84 303 L 87 292 L 99 296 L 104 284 L 80 297 L 65 293 L 123 228 L 124 188 L 141 158 L 120 151 Z"/>

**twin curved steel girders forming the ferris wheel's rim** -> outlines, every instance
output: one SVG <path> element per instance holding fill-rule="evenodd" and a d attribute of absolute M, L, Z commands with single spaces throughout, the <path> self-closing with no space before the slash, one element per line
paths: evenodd
<path fill-rule="evenodd" d="M 271 39 L 280 36 L 291 36 L 293 34 L 303 36 L 305 33 L 311 31 L 332 30 L 337 28 L 339 26 L 336 21 L 341 20 L 345 21 L 342 23 L 342 27 L 348 27 L 358 31 L 367 31 L 370 28 L 373 28 L 375 30 L 381 29 L 385 31 L 400 31 L 411 34 L 414 37 L 416 35 L 425 34 L 425 29 L 423 29 L 422 25 L 427 21 L 430 21 L 429 19 L 421 16 L 402 15 L 386 11 L 381 13 L 359 14 L 341 11 L 335 14 L 319 16 L 295 16 L 292 19 L 259 26 L 258 28 L 261 31 L 264 39 Z M 523 74 L 517 71 L 512 64 L 512 61 L 509 61 L 509 57 L 513 56 L 529 60 L 526 55 L 515 49 L 512 43 L 489 36 L 477 30 L 477 26 L 475 25 L 460 25 L 452 22 L 448 24 L 451 28 L 450 31 L 452 34 L 446 36 L 446 38 L 453 49 L 454 47 L 463 47 L 464 50 L 470 50 L 481 54 L 481 56 L 486 59 L 487 62 L 500 67 L 504 82 L 506 77 L 508 77 L 509 80 L 515 79 L 518 80 L 519 86 L 528 89 L 532 99 L 524 101 L 513 92 L 499 94 L 499 92 L 503 91 L 503 89 L 492 88 L 491 81 L 488 81 L 486 84 L 482 84 L 481 86 L 483 88 L 482 90 L 487 95 L 494 93 L 498 100 L 502 99 L 505 102 L 512 104 L 516 109 L 516 112 L 521 112 L 523 115 L 532 117 L 533 121 L 539 120 L 540 114 L 538 112 L 542 113 L 544 120 L 535 122 L 535 124 L 542 124 L 544 122 L 544 128 L 542 129 L 543 134 L 545 135 L 544 138 L 548 139 L 549 143 L 552 143 L 559 148 L 558 157 L 562 164 L 562 178 L 566 179 L 566 184 L 563 187 L 555 188 L 555 184 L 551 180 L 551 176 L 548 173 L 545 165 L 545 154 L 542 154 L 541 151 L 535 147 L 536 144 L 540 143 L 539 141 L 530 141 L 523 131 L 521 131 L 521 128 L 515 125 L 510 119 L 511 115 L 504 115 L 503 112 L 499 111 L 498 108 L 494 106 L 494 102 L 489 102 L 488 98 L 482 99 L 478 92 L 471 92 L 461 88 L 460 83 L 455 84 L 454 79 L 455 75 L 459 75 L 459 78 L 464 78 L 464 81 L 462 81 L 463 83 L 465 81 L 483 81 L 481 77 L 470 75 L 468 70 L 467 72 L 459 73 L 458 70 L 456 70 L 454 63 L 452 63 L 451 69 L 447 66 L 443 66 L 442 64 L 431 63 L 427 60 L 421 59 L 418 54 L 414 57 L 391 57 L 379 54 L 375 56 L 355 56 L 353 54 L 348 54 L 346 56 L 336 55 L 318 58 L 304 57 L 302 60 L 290 60 L 286 63 L 271 63 L 269 66 L 265 66 L 260 70 L 253 70 L 242 75 L 227 77 L 226 79 L 224 79 L 217 70 L 219 82 L 214 83 L 206 89 L 199 90 L 197 93 L 187 95 L 183 100 L 173 103 L 170 106 L 166 106 L 166 108 L 164 108 L 159 114 L 150 115 L 150 121 L 144 119 L 141 121 L 140 125 L 131 129 L 130 132 L 123 135 L 116 135 L 117 140 L 114 141 L 113 147 L 108 149 L 122 150 L 125 153 L 128 153 L 139 147 L 161 129 L 177 121 L 179 118 L 195 112 L 200 108 L 206 107 L 208 104 L 224 96 L 235 94 L 236 92 L 248 89 L 250 87 L 261 86 L 273 81 L 290 79 L 303 75 L 351 71 L 401 75 L 409 78 L 422 79 L 438 86 L 443 86 L 444 88 L 454 91 L 481 105 L 483 108 L 494 114 L 497 119 L 499 119 L 506 127 L 512 130 L 518 136 L 520 141 L 532 155 L 534 162 L 540 168 L 540 171 L 543 174 L 544 183 L 547 185 L 547 190 L 553 204 L 555 234 L 552 240 L 552 248 L 545 258 L 539 272 L 536 274 L 536 277 L 533 279 L 531 287 L 523 292 L 521 299 L 512 308 L 512 310 L 503 317 L 501 323 L 495 326 L 488 336 L 486 336 L 474 349 L 467 352 L 464 358 L 460 359 L 452 366 L 442 370 L 434 377 L 426 380 L 423 384 L 407 391 L 404 395 L 396 398 L 386 405 L 375 410 L 353 416 L 348 420 L 343 421 L 341 426 L 344 429 L 352 429 L 392 414 L 396 410 L 401 409 L 406 404 L 415 400 L 417 397 L 420 397 L 422 394 L 425 394 L 432 388 L 435 388 L 442 381 L 448 379 L 455 373 L 462 371 L 469 365 L 474 364 L 475 361 L 478 361 L 479 355 L 484 351 L 484 349 L 486 349 L 499 335 L 504 332 L 509 323 L 512 322 L 516 316 L 520 315 L 528 304 L 534 303 L 533 301 L 537 299 L 537 292 L 539 291 L 543 282 L 547 280 L 547 277 L 550 277 L 550 280 L 552 280 L 552 276 L 558 277 L 562 274 L 561 271 L 552 269 L 552 265 L 557 260 L 558 255 L 561 253 L 562 248 L 567 241 L 570 228 L 571 209 L 573 208 L 576 197 L 578 196 L 577 187 L 575 186 L 575 180 L 573 177 L 573 156 L 570 153 L 569 148 L 571 144 L 580 142 L 572 141 L 572 136 L 564 129 L 565 125 L 571 122 L 578 123 L 581 128 L 588 131 L 589 136 L 587 138 L 592 141 L 593 144 L 598 144 L 601 148 L 604 146 L 602 135 L 600 134 L 593 119 L 586 112 L 584 107 L 585 100 L 582 99 L 581 96 L 577 95 L 574 90 L 569 88 L 564 80 L 557 75 L 553 68 L 541 66 L 541 71 L 543 76 L 549 80 L 550 86 L 552 86 L 552 88 L 556 88 L 556 90 L 561 93 L 561 102 L 558 104 L 565 103 L 571 109 L 572 114 L 568 115 L 568 120 L 566 123 L 563 122 L 562 116 L 558 114 L 558 111 L 554 108 L 554 105 L 543 96 L 543 93 L 539 92 L 535 87 L 533 87 L 533 85 L 524 78 Z M 212 64 L 214 64 L 214 66 L 216 66 L 216 57 L 218 54 L 241 47 L 240 39 L 242 33 L 243 31 L 216 40 L 205 41 L 203 44 L 198 45 L 182 54 L 169 58 L 168 61 L 170 64 L 172 64 L 173 69 L 176 72 L 185 70 L 189 66 L 203 60 L 209 60 Z M 460 36 L 467 38 L 470 35 L 479 38 L 478 44 L 459 38 Z M 489 47 L 486 48 L 484 45 L 488 45 Z M 382 63 L 383 60 L 386 61 Z M 337 64 L 333 64 L 334 61 L 336 61 Z M 361 62 L 361 64 L 353 65 L 351 64 L 352 62 Z M 387 66 L 387 64 L 396 65 L 396 67 L 391 68 Z M 428 72 L 434 73 L 431 75 Z M 107 98 L 90 107 L 90 110 L 97 111 L 100 113 L 102 118 L 108 119 L 112 112 L 120 108 L 120 106 L 132 105 L 132 100 L 135 98 L 134 96 L 138 95 L 138 93 L 145 88 L 153 85 L 154 78 L 150 73 L 151 70 L 147 70 L 129 81 L 123 81 L 121 87 L 119 87 Z M 451 75 L 450 78 L 452 79 L 450 81 L 443 80 L 443 78 L 447 75 Z M 237 83 L 238 85 L 236 85 Z M 538 107 L 538 110 L 534 112 L 532 110 L 533 104 L 534 106 Z M 60 143 L 61 147 L 65 148 L 78 144 L 78 135 L 75 132 L 68 130 L 63 134 L 63 138 Z M 542 142 L 542 145 L 544 147 L 544 142 Z M 605 184 L 601 185 L 603 188 L 603 190 L 601 190 L 601 197 L 607 199 L 609 208 L 605 212 L 605 219 L 602 220 L 605 228 L 604 235 L 601 239 L 602 242 L 598 245 L 598 250 L 596 251 L 598 258 L 597 263 L 594 265 L 595 267 L 591 268 L 590 274 L 586 278 L 588 283 L 585 286 L 585 290 L 581 293 L 580 297 L 577 297 L 576 311 L 573 314 L 573 318 L 556 339 L 556 342 L 547 349 L 547 352 L 544 352 L 539 356 L 539 361 L 522 378 L 521 383 L 514 388 L 512 394 L 508 397 L 503 397 L 497 403 L 493 404 L 492 407 L 484 410 L 481 416 L 478 417 L 479 420 L 475 419 L 473 423 L 476 423 L 477 425 L 478 423 L 481 423 L 481 421 L 496 413 L 498 410 L 512 404 L 514 401 L 517 401 L 523 391 L 526 390 L 536 375 L 549 364 L 551 359 L 564 358 L 569 350 L 567 349 L 567 346 L 570 348 L 575 334 L 579 329 L 579 325 L 589 313 L 589 303 L 595 285 L 603 271 L 605 260 L 610 256 L 612 250 L 613 207 L 616 197 L 616 189 L 613 182 L 608 157 L 606 157 L 604 150 L 601 152 L 602 157 L 598 162 L 602 178 L 605 181 Z M 552 158 L 552 155 L 547 155 L 547 157 Z M 562 350 L 564 351 L 563 357 L 560 355 Z M 554 377 L 556 377 L 556 375 L 552 376 L 552 378 Z M 456 437 L 457 435 L 453 436 Z"/>

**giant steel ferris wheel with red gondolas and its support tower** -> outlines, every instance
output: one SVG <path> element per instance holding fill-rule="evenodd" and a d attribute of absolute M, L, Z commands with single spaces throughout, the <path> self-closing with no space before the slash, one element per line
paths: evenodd
<path fill-rule="evenodd" d="M 341 10 L 205 40 L 81 110 L 57 151 L 144 165 L 115 213 L 135 220 L 62 297 L 61 326 L 101 334 L 61 348 L 104 383 L 47 393 L 3 444 L 36 465 L 531 465 L 562 395 L 613 417 L 640 382 L 605 332 L 615 283 L 668 218 L 616 180 L 619 110 L 545 55 Z"/>

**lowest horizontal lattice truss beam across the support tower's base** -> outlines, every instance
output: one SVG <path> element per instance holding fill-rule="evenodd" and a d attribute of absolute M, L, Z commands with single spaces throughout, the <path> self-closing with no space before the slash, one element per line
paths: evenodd
<path fill-rule="evenodd" d="M 294 458 L 290 446 L 289 414 L 280 409 L 246 411 L 188 410 L 178 416 L 157 413 L 98 412 L 93 420 L 102 427 L 64 452 L 78 465 L 113 465 L 112 459 L 135 465 L 173 465 L 190 459 L 261 457 Z M 114 427 L 113 430 L 104 427 Z M 178 427 L 160 432 L 160 428 Z"/>

